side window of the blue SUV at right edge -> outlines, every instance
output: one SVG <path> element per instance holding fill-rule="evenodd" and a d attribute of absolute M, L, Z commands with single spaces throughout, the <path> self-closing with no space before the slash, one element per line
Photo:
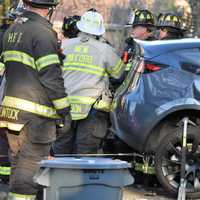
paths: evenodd
<path fill-rule="evenodd" d="M 175 53 L 181 58 L 181 69 L 194 74 L 200 74 L 200 48 L 183 49 Z"/>

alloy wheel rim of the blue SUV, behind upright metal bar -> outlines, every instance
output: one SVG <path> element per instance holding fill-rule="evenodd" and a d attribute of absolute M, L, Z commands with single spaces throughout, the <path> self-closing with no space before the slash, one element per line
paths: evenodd
<path fill-rule="evenodd" d="M 178 189 L 181 172 L 181 142 L 169 142 L 165 154 L 161 157 L 161 169 L 169 184 Z M 186 153 L 186 192 L 200 192 L 200 143 L 188 139 Z"/>

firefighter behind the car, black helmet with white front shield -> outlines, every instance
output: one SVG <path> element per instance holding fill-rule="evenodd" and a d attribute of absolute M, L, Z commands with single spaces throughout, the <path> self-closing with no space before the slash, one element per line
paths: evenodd
<path fill-rule="evenodd" d="M 135 55 L 135 41 L 155 40 L 155 17 L 149 10 L 132 10 L 126 27 L 131 27 L 131 36 L 126 39 L 126 47 L 122 54 L 122 59 L 126 64 L 126 72 L 130 71 L 132 59 Z"/>

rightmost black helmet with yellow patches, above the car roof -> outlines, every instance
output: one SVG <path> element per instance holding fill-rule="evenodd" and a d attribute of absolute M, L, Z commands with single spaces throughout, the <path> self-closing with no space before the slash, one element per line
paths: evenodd
<path fill-rule="evenodd" d="M 171 31 L 184 31 L 182 19 L 172 13 L 160 14 L 157 27 L 166 28 Z"/>

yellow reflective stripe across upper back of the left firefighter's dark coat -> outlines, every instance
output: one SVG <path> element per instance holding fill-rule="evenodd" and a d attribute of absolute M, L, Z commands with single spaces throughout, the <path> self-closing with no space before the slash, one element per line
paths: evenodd
<path fill-rule="evenodd" d="M 7 61 L 20 62 L 32 67 L 33 69 L 36 69 L 34 59 L 24 52 L 5 51 L 3 52 L 3 59 L 4 59 L 4 62 L 7 62 Z"/>

